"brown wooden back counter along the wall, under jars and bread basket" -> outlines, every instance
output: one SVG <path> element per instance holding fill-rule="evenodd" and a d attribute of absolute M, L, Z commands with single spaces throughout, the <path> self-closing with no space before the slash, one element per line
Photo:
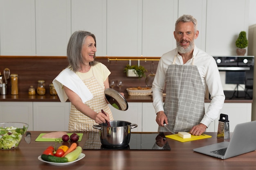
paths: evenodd
<path fill-rule="evenodd" d="M 124 96 L 127 102 L 153 102 L 151 96 L 129 96 L 124 92 Z M 50 94 L 45 95 L 33 95 L 29 96 L 27 93 L 18 95 L 0 95 L 1 102 L 60 102 L 58 96 L 52 96 Z M 68 102 L 69 100 L 67 100 Z M 211 100 L 205 100 L 205 102 L 211 102 Z M 252 100 L 225 100 L 225 103 L 252 103 Z"/>

